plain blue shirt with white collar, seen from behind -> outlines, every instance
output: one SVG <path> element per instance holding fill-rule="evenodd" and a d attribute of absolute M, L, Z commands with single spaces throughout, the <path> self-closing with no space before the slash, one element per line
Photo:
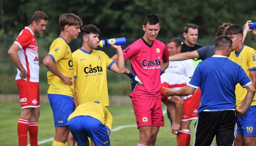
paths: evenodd
<path fill-rule="evenodd" d="M 201 87 L 203 110 L 220 111 L 236 108 L 236 84 L 246 87 L 252 83 L 244 69 L 226 56 L 213 55 L 198 64 L 188 86 Z"/>

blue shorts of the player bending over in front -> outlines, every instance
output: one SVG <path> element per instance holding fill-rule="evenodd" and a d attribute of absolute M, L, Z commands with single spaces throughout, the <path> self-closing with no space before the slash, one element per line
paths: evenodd
<path fill-rule="evenodd" d="M 84 146 L 90 137 L 95 146 L 110 145 L 107 126 L 91 116 L 76 116 L 69 120 L 69 130 L 77 141 L 77 146 Z M 107 131 L 108 130 L 108 131 Z"/>

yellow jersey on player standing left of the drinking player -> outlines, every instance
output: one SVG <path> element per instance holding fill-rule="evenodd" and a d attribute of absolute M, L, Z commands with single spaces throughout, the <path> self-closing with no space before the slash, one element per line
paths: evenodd
<path fill-rule="evenodd" d="M 72 53 L 66 40 L 62 37 L 55 39 L 50 46 L 47 56 L 52 57 L 55 65 L 64 76 L 72 78 L 74 82 L 74 68 Z M 47 79 L 49 89 L 48 94 L 61 94 L 74 97 L 74 87 L 64 83 L 58 76 L 48 70 Z"/>

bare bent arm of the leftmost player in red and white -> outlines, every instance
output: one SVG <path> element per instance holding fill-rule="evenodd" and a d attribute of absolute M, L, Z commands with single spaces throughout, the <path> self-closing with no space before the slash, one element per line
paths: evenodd
<path fill-rule="evenodd" d="M 19 50 L 20 50 L 20 46 L 16 43 L 13 43 L 10 49 L 8 50 L 8 54 L 12 59 L 12 62 L 14 63 L 14 65 L 20 70 L 20 77 L 23 79 L 23 78 L 26 78 L 28 75 L 27 75 L 27 71 L 25 70 L 25 68 L 20 62 L 20 57 L 18 55 Z"/>

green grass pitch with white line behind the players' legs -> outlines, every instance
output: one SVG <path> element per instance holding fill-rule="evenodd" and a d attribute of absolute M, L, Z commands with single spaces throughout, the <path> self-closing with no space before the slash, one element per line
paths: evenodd
<path fill-rule="evenodd" d="M 0 145 L 17 146 L 17 122 L 20 116 L 20 103 L 0 103 Z M 131 105 L 112 105 L 108 107 L 113 116 L 112 132 L 110 143 L 112 146 L 124 145 L 135 146 L 139 141 L 139 131 L 135 122 L 135 116 Z M 165 110 L 165 108 L 164 108 Z M 176 146 L 176 136 L 170 131 L 170 123 L 167 115 L 164 115 L 165 127 L 161 127 L 157 135 L 156 146 Z M 194 123 L 190 125 L 191 138 L 194 136 Z M 43 141 L 54 137 L 54 124 L 52 109 L 49 104 L 41 104 L 41 114 L 39 118 L 38 141 Z M 128 125 L 127 128 L 120 129 L 120 126 Z M 29 142 L 29 140 L 28 140 Z M 192 144 L 191 140 L 191 144 Z M 40 146 L 51 146 L 52 141 L 42 143 Z"/>

